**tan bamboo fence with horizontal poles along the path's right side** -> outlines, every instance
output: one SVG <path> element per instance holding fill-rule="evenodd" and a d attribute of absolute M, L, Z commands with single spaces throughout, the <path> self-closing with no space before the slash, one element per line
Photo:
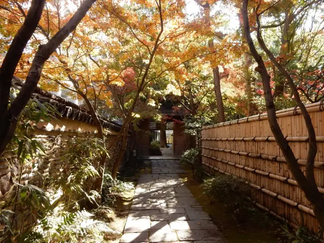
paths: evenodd
<path fill-rule="evenodd" d="M 306 105 L 315 129 L 317 154 L 315 180 L 324 194 L 324 104 Z M 305 172 L 308 133 L 299 107 L 276 112 L 282 133 Z M 287 221 L 318 231 L 311 204 L 291 174 L 286 159 L 270 130 L 267 114 L 249 116 L 204 127 L 202 161 L 208 174 L 240 177 L 255 189 L 252 200 L 259 208 Z"/>

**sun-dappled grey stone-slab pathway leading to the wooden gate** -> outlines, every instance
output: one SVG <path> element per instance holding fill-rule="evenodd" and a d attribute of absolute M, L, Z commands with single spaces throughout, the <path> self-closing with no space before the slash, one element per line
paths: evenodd
<path fill-rule="evenodd" d="M 126 242 L 225 243 L 217 226 L 176 173 L 175 159 L 151 159 L 152 174 L 141 175 L 124 234 Z"/>

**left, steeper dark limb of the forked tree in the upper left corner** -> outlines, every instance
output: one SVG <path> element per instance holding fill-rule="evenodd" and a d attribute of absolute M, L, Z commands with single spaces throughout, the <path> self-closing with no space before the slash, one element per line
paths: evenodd
<path fill-rule="evenodd" d="M 5 114 L 9 104 L 11 80 L 18 62 L 32 34 L 42 17 L 45 0 L 33 0 L 25 21 L 12 40 L 0 68 L 0 114 Z"/>

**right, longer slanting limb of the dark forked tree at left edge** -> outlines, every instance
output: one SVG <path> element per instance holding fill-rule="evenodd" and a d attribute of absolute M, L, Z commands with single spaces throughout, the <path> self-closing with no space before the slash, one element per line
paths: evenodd
<path fill-rule="evenodd" d="M 38 47 L 25 84 L 9 109 L 5 112 L 3 119 L 0 121 L 0 154 L 5 151 L 15 133 L 18 116 L 27 105 L 31 95 L 37 87 L 45 61 L 49 59 L 64 39 L 76 28 L 94 2 L 96 2 L 96 0 L 85 0 L 64 27 L 61 28 L 47 44 Z"/>

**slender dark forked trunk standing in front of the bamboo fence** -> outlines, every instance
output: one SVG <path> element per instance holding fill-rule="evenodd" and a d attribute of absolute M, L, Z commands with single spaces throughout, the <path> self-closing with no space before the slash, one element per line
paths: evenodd
<path fill-rule="evenodd" d="M 253 55 L 254 59 L 258 63 L 258 67 L 256 67 L 256 71 L 258 71 L 262 77 L 262 84 L 264 89 L 264 97 L 265 97 L 265 103 L 267 108 L 267 115 L 268 115 L 268 121 L 270 125 L 270 129 L 273 133 L 273 136 L 275 137 L 276 142 L 278 143 L 280 150 L 284 154 L 287 164 L 289 166 L 290 171 L 292 172 L 295 180 L 297 181 L 300 188 L 305 192 L 306 198 L 310 201 L 314 208 L 315 216 L 322 228 L 324 228 L 324 198 L 321 195 L 321 193 L 318 191 L 317 185 L 315 183 L 315 177 L 314 177 L 314 158 L 317 152 L 317 146 L 316 146 L 316 137 L 314 128 L 311 123 L 310 116 L 305 108 L 305 105 L 301 102 L 298 91 L 294 85 L 294 82 L 290 76 L 290 74 L 287 72 L 285 68 L 283 68 L 278 62 L 276 62 L 273 54 L 266 48 L 261 33 L 260 33 L 260 26 L 259 26 L 259 19 L 257 16 L 257 23 L 258 23 L 258 33 L 257 38 L 258 42 L 261 46 L 261 48 L 265 51 L 265 53 L 270 58 L 271 62 L 280 70 L 281 74 L 284 75 L 296 98 L 297 104 L 300 107 L 300 110 L 302 112 L 302 115 L 305 120 L 305 124 L 308 131 L 309 136 L 309 149 L 307 154 L 307 163 L 306 163 L 306 176 L 304 175 L 303 171 L 301 170 L 300 166 L 297 163 L 297 159 L 295 157 L 295 154 L 293 153 L 290 145 L 288 144 L 284 134 L 282 134 L 282 131 L 279 127 L 278 121 L 276 119 L 276 110 L 275 105 L 273 103 L 273 97 L 271 94 L 271 88 L 270 88 L 270 75 L 267 72 L 267 69 L 265 67 L 265 64 L 262 60 L 262 57 L 258 54 L 252 37 L 250 33 L 250 26 L 249 26 L 249 17 L 248 17 L 248 0 L 243 1 L 243 8 L 242 8 L 242 15 L 244 19 L 244 29 L 245 29 L 245 35 L 247 38 L 247 43 L 249 45 L 251 54 Z"/>

